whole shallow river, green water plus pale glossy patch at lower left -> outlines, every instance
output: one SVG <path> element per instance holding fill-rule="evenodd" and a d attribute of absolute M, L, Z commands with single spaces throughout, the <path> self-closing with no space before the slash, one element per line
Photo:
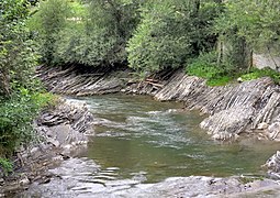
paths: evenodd
<path fill-rule="evenodd" d="M 203 117 L 182 110 L 179 102 L 125 95 L 71 100 L 87 102 L 96 118 L 96 135 L 78 158 L 52 170 L 63 182 L 33 185 L 26 195 L 105 197 L 113 190 L 108 186 L 123 189 L 169 177 L 261 175 L 260 166 L 278 148 L 249 139 L 215 142 L 199 128 Z"/>

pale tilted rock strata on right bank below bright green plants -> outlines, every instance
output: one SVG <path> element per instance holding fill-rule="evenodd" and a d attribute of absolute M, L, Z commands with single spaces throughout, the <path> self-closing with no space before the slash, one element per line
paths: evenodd
<path fill-rule="evenodd" d="M 280 140 L 280 92 L 270 78 L 208 87 L 200 78 L 178 75 L 155 98 L 184 101 L 188 109 L 210 114 L 201 127 L 214 139 L 228 140 L 242 132 L 262 132 L 267 139 Z"/>

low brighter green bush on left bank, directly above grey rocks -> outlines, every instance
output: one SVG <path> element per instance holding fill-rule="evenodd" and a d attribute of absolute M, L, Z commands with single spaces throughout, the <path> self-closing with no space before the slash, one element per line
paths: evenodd
<path fill-rule="evenodd" d="M 0 151 L 10 155 L 22 144 L 34 140 L 32 121 L 52 96 L 19 88 L 9 100 L 0 100 Z"/>

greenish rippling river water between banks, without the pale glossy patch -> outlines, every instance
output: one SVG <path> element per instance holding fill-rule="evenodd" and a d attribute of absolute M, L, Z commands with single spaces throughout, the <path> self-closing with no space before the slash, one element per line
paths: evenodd
<path fill-rule="evenodd" d="M 94 96 L 87 101 L 97 119 L 96 136 L 85 156 L 101 168 L 117 167 L 119 179 L 155 183 L 172 176 L 261 174 L 277 144 L 243 140 L 214 142 L 199 128 L 198 112 L 177 102 L 144 96 Z M 142 174 L 138 174 L 142 173 Z"/>

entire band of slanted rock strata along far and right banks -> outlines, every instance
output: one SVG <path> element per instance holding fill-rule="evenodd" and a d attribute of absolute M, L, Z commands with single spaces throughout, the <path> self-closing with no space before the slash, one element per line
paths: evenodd
<path fill-rule="evenodd" d="M 216 140 L 242 132 L 280 141 L 280 87 L 260 78 L 223 87 L 209 87 L 202 78 L 182 70 L 165 70 L 143 81 L 128 69 L 68 69 L 40 67 L 38 77 L 56 94 L 90 96 L 110 92 L 150 95 L 160 101 L 183 101 L 187 109 L 209 114 L 201 127 Z"/>

